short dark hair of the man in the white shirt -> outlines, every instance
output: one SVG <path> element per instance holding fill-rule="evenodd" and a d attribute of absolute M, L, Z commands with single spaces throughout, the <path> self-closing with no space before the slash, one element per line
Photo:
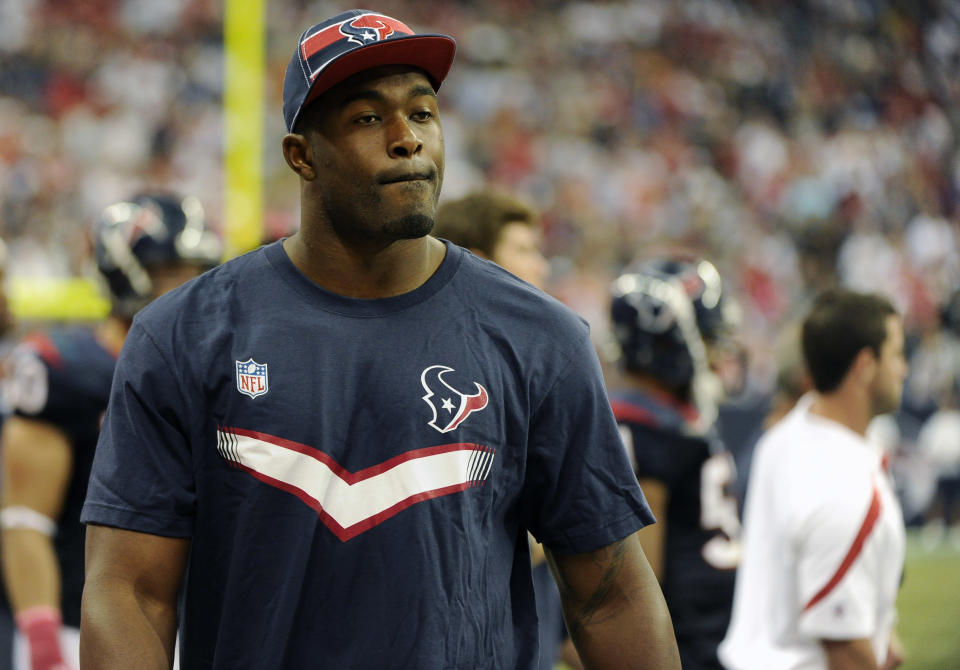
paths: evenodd
<path fill-rule="evenodd" d="M 885 297 L 829 289 L 813 302 L 803 322 L 803 356 L 816 390 L 836 390 L 865 347 L 880 355 L 887 318 L 897 310 Z"/>

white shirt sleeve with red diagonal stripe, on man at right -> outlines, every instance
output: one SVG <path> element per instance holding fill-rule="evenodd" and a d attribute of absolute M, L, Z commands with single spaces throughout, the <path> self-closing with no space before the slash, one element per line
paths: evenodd
<path fill-rule="evenodd" d="M 842 499 L 825 500 L 807 520 L 797 565 L 804 635 L 835 640 L 873 635 L 881 594 L 868 543 L 879 515 L 878 491 L 858 482 Z"/>

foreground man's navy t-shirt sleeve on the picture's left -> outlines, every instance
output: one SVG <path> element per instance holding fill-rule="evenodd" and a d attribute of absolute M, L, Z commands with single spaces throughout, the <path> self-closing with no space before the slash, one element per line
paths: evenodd
<path fill-rule="evenodd" d="M 82 522 L 169 537 L 192 534 L 188 406 L 170 357 L 134 322 L 117 361 Z"/>

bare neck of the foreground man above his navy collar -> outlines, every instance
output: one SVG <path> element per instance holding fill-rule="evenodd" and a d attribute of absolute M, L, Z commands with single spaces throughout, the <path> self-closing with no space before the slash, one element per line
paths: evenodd
<path fill-rule="evenodd" d="M 422 286 L 443 261 L 446 247 L 425 236 L 359 248 L 341 240 L 314 240 L 301 230 L 283 243 L 308 279 L 350 298 L 389 298 Z"/>

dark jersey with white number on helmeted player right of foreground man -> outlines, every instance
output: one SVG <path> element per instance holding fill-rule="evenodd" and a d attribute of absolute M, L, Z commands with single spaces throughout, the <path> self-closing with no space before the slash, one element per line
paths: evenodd
<path fill-rule="evenodd" d="M 740 561 L 733 458 L 690 405 L 622 390 L 611 394 L 637 476 L 668 489 L 663 595 L 685 670 L 723 670 L 717 646 L 730 623 Z"/>

